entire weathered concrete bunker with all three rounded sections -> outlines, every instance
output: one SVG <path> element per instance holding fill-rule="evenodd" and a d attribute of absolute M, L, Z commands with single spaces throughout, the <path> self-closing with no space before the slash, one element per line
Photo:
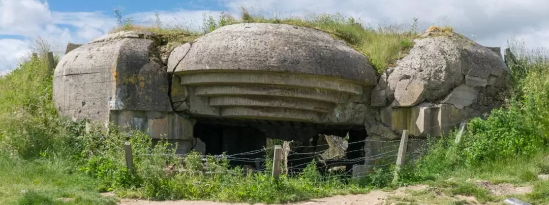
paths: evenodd
<path fill-rule="evenodd" d="M 266 153 L 253 151 L 271 139 L 303 154 L 346 144 L 343 157 L 322 163 L 349 170 L 388 147 L 366 138 L 397 139 L 402 129 L 440 136 L 501 106 L 509 71 L 497 49 L 437 32 L 421 34 L 379 77 L 361 52 L 313 28 L 236 24 L 186 43 L 115 32 L 68 46 L 54 73 L 54 106 L 74 120 L 149 130 L 181 154 L 253 153 L 232 165 L 261 168 Z"/>

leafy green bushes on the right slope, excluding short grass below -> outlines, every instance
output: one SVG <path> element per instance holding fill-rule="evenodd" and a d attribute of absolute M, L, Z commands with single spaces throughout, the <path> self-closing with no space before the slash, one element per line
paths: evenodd
<path fill-rule="evenodd" d="M 460 144 L 453 143 L 455 132 L 432 140 L 428 153 L 416 166 L 421 175 L 441 177 L 458 169 L 478 171 L 483 170 L 481 167 L 505 166 L 505 161 L 528 159 L 547 151 L 549 55 L 513 52 L 519 58 L 518 64 L 511 66 L 514 87 L 509 106 L 492 110 L 487 118 L 470 120 Z M 523 174 L 526 178 L 532 175 Z"/>

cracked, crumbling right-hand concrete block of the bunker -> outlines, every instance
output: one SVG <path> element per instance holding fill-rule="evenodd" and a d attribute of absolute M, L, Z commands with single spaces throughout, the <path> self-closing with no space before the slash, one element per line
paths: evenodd
<path fill-rule="evenodd" d="M 410 54 L 380 77 L 371 103 L 378 107 L 369 128 L 377 136 L 441 136 L 460 122 L 501 107 L 509 69 L 499 48 L 456 33 L 429 31 Z M 394 133 L 399 132 L 399 133 Z"/>

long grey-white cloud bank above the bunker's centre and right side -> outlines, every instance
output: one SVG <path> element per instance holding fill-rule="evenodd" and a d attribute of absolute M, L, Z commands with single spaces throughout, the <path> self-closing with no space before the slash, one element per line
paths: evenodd
<path fill-rule="evenodd" d="M 538 38 L 549 30 L 546 0 L 225 0 L 225 3 L 233 12 L 238 12 L 241 5 L 255 10 L 270 8 L 260 11 L 273 15 L 339 12 L 366 23 L 408 23 L 418 18 L 420 28 L 450 25 L 487 46 L 505 46 L 506 39 L 513 34 L 524 38 L 528 46 L 549 44 L 549 38 Z"/>

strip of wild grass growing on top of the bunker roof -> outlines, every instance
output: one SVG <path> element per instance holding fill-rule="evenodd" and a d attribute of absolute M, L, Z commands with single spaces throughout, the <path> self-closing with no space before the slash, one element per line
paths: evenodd
<path fill-rule="evenodd" d="M 217 19 L 211 15 L 204 15 L 203 25 L 199 30 L 192 30 L 190 26 L 182 24 L 164 25 L 158 14 L 152 22 L 142 24 L 141 22 L 133 22 L 132 19 L 122 19 L 119 11 L 115 10 L 115 13 L 119 19 L 119 27 L 114 31 L 149 31 L 161 34 L 168 42 L 179 43 L 192 41 L 223 26 L 249 22 L 316 28 L 329 33 L 334 38 L 345 40 L 352 48 L 365 54 L 378 72 L 394 66 L 392 63 L 404 57 L 413 46 L 413 38 L 417 36 L 415 32 L 417 28 L 416 20 L 409 28 L 406 28 L 405 25 L 364 26 L 360 20 L 339 13 L 307 13 L 302 16 L 279 18 L 251 14 L 246 8 L 242 7 L 240 19 L 224 12 Z"/>

